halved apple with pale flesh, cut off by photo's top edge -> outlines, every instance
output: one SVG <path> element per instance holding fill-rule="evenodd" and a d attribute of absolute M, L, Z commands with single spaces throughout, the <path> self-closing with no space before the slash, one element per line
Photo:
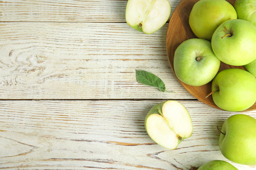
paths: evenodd
<path fill-rule="evenodd" d="M 165 25 L 170 14 L 168 0 L 128 0 L 125 17 L 129 26 L 152 34 Z"/>

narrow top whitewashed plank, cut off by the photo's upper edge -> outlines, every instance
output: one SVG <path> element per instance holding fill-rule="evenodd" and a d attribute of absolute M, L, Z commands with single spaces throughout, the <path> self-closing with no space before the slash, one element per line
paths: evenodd
<path fill-rule="evenodd" d="M 180 0 L 169 0 L 172 13 Z M 0 21 L 126 22 L 127 0 L 6 0 Z"/>

